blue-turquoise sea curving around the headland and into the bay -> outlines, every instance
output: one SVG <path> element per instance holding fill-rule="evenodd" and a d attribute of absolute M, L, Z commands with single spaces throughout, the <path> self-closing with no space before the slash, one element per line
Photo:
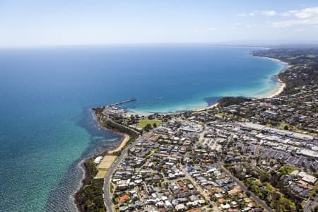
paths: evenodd
<path fill-rule="evenodd" d="M 278 88 L 285 65 L 252 48 L 208 45 L 0 50 L 0 211 L 73 211 L 78 163 L 120 137 L 90 107 L 137 98 L 135 112 L 205 107 Z"/>

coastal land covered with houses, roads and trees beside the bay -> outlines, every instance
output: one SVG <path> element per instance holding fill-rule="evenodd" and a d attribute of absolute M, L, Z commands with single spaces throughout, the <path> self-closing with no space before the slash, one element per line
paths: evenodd
<path fill-rule="evenodd" d="M 86 163 L 81 211 L 318 211 L 318 49 L 266 49 L 283 91 L 174 114 L 95 107 L 122 148 Z M 136 100 L 136 99 L 131 99 Z"/>

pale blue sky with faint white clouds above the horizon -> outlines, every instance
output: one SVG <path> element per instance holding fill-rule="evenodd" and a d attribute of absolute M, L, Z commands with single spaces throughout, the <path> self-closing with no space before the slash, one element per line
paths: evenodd
<path fill-rule="evenodd" d="M 318 1 L 0 0 L 0 47 L 317 42 Z"/>

